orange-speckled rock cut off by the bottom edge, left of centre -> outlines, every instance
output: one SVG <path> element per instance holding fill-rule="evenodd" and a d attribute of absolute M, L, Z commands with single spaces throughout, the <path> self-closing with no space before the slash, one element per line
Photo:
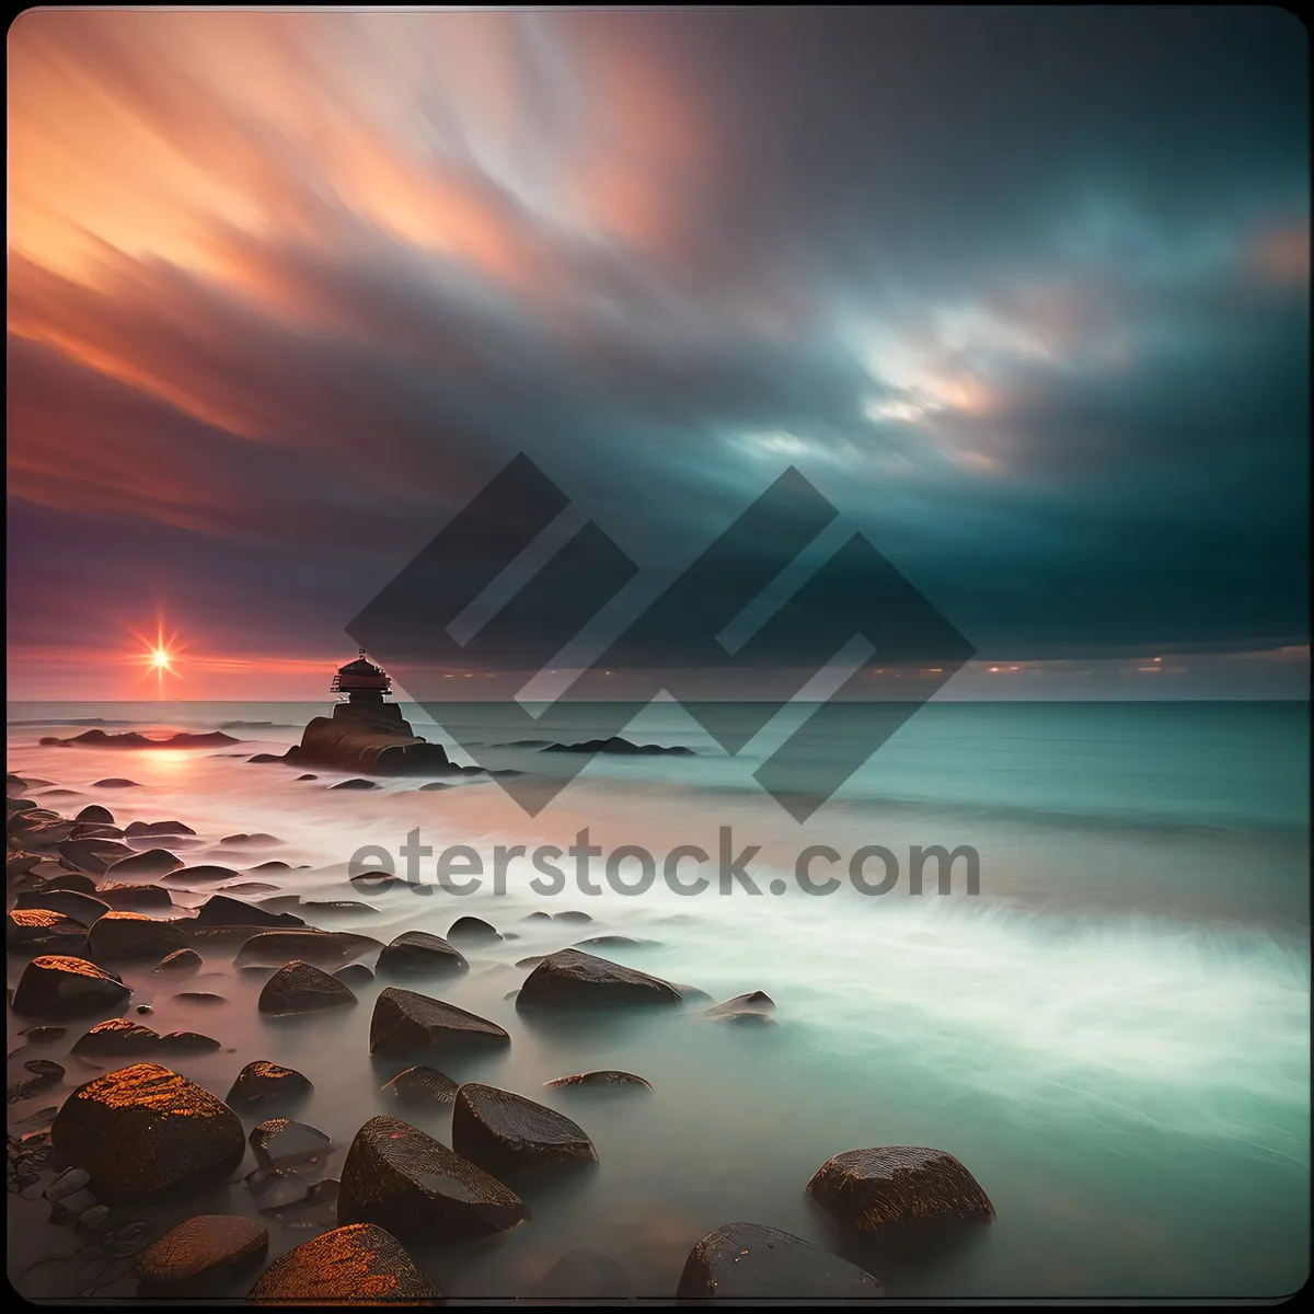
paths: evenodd
<path fill-rule="evenodd" d="M 438 1288 L 382 1227 L 350 1226 L 276 1259 L 247 1297 L 255 1305 L 350 1305 L 368 1293 L 380 1305 L 436 1305 Z"/>

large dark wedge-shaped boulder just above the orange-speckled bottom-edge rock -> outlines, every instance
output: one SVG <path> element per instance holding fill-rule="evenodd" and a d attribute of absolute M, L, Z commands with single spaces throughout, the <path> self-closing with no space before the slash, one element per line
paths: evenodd
<path fill-rule="evenodd" d="M 372 1222 L 432 1243 L 506 1231 L 528 1217 L 502 1183 L 398 1118 L 371 1118 L 347 1151 L 340 1222 Z"/>

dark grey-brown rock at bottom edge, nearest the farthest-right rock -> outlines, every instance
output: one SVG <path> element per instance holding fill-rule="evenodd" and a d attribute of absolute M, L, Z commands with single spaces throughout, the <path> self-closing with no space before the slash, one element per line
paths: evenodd
<path fill-rule="evenodd" d="M 884 1296 L 870 1273 L 829 1251 L 758 1223 L 727 1223 L 704 1236 L 685 1261 L 675 1298 L 854 1300 Z"/>

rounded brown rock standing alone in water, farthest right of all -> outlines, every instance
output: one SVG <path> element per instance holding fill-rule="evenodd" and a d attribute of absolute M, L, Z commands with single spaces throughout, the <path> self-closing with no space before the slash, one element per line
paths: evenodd
<path fill-rule="evenodd" d="M 816 1171 L 808 1193 L 837 1223 L 859 1233 L 995 1218 L 986 1192 L 951 1154 L 915 1146 L 837 1154 Z"/>

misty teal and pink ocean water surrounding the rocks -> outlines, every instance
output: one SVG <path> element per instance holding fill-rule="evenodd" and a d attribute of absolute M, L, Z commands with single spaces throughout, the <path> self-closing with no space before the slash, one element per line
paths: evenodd
<path fill-rule="evenodd" d="M 418 733 L 444 741 L 417 708 L 403 711 Z M 519 937 L 472 950 L 466 976 L 431 988 L 512 1035 L 505 1054 L 448 1071 L 568 1112 L 593 1137 L 599 1164 L 527 1197 L 532 1219 L 511 1234 L 414 1248 L 449 1297 L 530 1296 L 557 1257 L 583 1246 L 623 1263 L 639 1294 L 666 1298 L 689 1248 L 733 1221 L 838 1250 L 895 1297 L 1259 1298 L 1303 1282 L 1307 704 L 932 703 L 803 824 L 752 778 L 770 735 L 731 758 L 670 703 L 649 707 L 627 737 L 685 744 L 696 757 L 597 758 L 533 817 L 487 779 L 438 791 L 419 790 L 422 781 L 335 791 L 327 786 L 342 774 L 309 767 L 318 779 L 298 782 L 300 767 L 246 761 L 296 742 L 323 712 L 289 703 L 9 704 L 9 770 L 53 782 L 32 796 L 66 813 L 100 802 L 120 824 L 185 821 L 200 837 L 181 854 L 188 862 L 242 867 L 276 857 L 300 867 L 272 878 L 283 892 L 374 905 L 325 926 L 386 942 L 409 929 L 443 933 L 457 916 L 476 915 Z M 487 714 L 470 703 L 453 716 L 477 728 Z M 147 733 L 229 727 L 242 742 L 217 750 L 37 742 L 91 723 Z M 598 733 L 602 725 L 599 717 Z M 591 737 L 583 724 L 579 737 Z M 497 762 L 532 771 L 535 758 L 505 749 Z M 798 770 L 805 787 L 809 763 Z M 93 786 L 105 777 L 138 784 Z M 498 846 L 565 850 L 585 828 L 603 855 L 641 846 L 658 871 L 677 846 L 715 857 L 728 832 L 736 853 L 754 849 L 748 870 L 758 892 L 737 883 L 723 891 L 710 865 L 702 894 L 675 894 L 660 878 L 624 894 L 607 884 L 604 857 L 590 869 L 597 894 L 576 886 L 569 858 L 560 894 L 530 886 L 539 874 L 527 858 L 503 863 L 505 888 L 495 887 Z M 482 886 L 464 895 L 435 887 L 435 858 L 424 857 L 419 891 L 352 890 L 347 867 L 357 850 L 396 855 L 415 830 L 435 854 L 472 848 Z M 219 842 L 234 832 L 283 842 L 234 861 Z M 841 878 L 827 895 L 805 892 L 795 876 L 799 853 L 816 845 L 840 855 L 833 866 L 815 863 L 816 879 Z M 894 888 L 879 896 L 845 879 L 849 857 L 872 845 L 900 863 Z M 976 892 L 963 867 L 941 892 L 933 866 L 924 891 L 911 892 L 915 845 L 974 849 Z M 394 862 L 405 869 L 399 855 Z M 629 859 L 618 872 L 633 880 L 639 870 Z M 594 924 L 522 920 L 568 908 Z M 514 963 L 589 934 L 653 941 L 602 953 L 717 999 L 763 989 L 779 1025 L 725 1026 L 703 1018 L 699 1005 L 587 1024 L 518 1013 L 505 997 L 526 975 Z M 11 959 L 11 986 L 18 968 Z M 260 982 L 218 957 L 185 986 L 162 986 L 148 971 L 125 979 L 155 1008 L 156 1030 L 201 1030 L 233 1050 L 175 1063 L 218 1095 L 251 1059 L 304 1071 L 315 1092 L 297 1117 L 334 1138 L 330 1175 L 356 1127 L 385 1112 L 378 1087 L 393 1071 L 367 1051 L 377 987 L 360 991 L 350 1014 L 275 1025 L 255 1010 Z M 202 1012 L 173 1000 L 177 989 L 215 991 L 227 1003 Z M 11 1017 L 11 1053 L 26 1025 Z M 59 1051 L 41 1053 L 66 1062 Z M 628 1068 L 654 1089 L 604 1101 L 543 1091 L 589 1067 Z M 85 1079 L 76 1060 L 68 1075 Z M 62 1093 L 12 1105 L 11 1118 Z M 449 1117 L 420 1125 L 445 1139 Z M 855 1250 L 804 1187 L 832 1155 L 872 1144 L 957 1155 L 997 1221 L 917 1250 Z M 22 1272 L 11 1264 L 11 1280 L 29 1296 L 72 1294 L 76 1281 L 59 1257 L 72 1246 L 62 1230 L 45 1223 L 39 1206 L 14 1197 L 11 1206 L 11 1240 L 22 1240 L 25 1260 Z M 219 1210 L 254 1213 L 254 1205 L 235 1184 L 191 1212 Z M 158 1233 L 176 1212 L 141 1217 Z M 273 1221 L 271 1230 L 272 1254 L 313 1234 Z M 131 1294 L 124 1281 L 101 1294 Z"/>

